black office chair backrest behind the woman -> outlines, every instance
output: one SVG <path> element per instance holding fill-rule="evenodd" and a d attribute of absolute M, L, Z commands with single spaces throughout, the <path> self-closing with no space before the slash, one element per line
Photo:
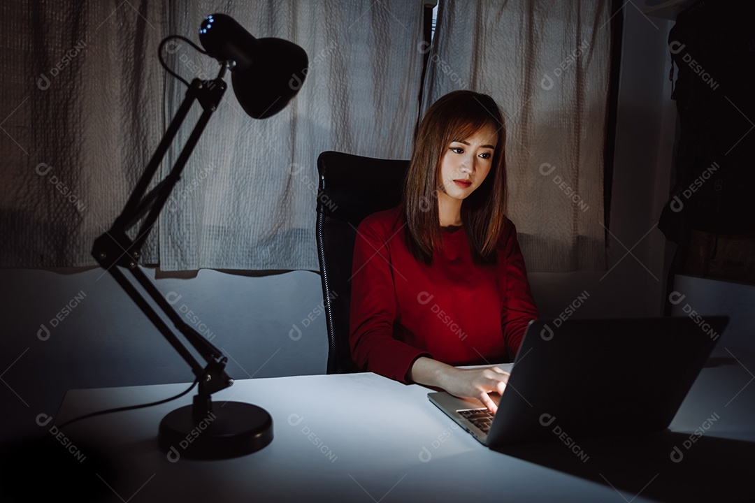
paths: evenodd
<path fill-rule="evenodd" d="M 356 228 L 397 206 L 409 161 L 322 152 L 317 159 L 317 254 L 328 325 L 328 373 L 359 372 L 351 359 L 349 315 Z"/>

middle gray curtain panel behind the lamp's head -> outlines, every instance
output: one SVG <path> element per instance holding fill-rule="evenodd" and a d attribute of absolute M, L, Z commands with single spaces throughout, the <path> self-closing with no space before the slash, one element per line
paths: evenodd
<path fill-rule="evenodd" d="M 162 215 L 161 267 L 319 270 L 316 158 L 325 150 L 408 158 L 422 8 L 373 0 L 176 8 L 175 32 L 192 32 L 206 13 L 223 11 L 255 36 L 300 44 L 310 66 L 297 97 L 273 118 L 249 118 L 230 94 L 222 103 L 177 187 L 176 210 Z M 174 54 L 183 75 L 195 66 L 181 61 L 199 59 L 186 45 Z M 178 103 L 178 90 L 169 103 Z"/>

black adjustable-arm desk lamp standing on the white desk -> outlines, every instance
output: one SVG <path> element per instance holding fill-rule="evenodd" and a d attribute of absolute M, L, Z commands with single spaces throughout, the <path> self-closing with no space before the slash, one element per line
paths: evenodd
<path fill-rule="evenodd" d="M 213 57 L 220 63 L 220 72 L 214 80 L 193 79 L 189 84 L 162 62 L 162 48 L 172 38 L 187 41 L 197 51 Z M 230 71 L 233 91 L 244 111 L 252 118 L 268 118 L 285 108 L 297 94 L 307 74 L 307 53 L 289 41 L 279 38 L 254 38 L 249 32 L 225 14 L 212 14 L 205 18 L 199 29 L 202 51 L 190 40 L 171 35 L 159 48 L 160 61 L 165 69 L 189 88 L 171 124 L 128 198 L 122 213 L 112 227 L 100 235 L 92 247 L 92 256 L 116 279 L 120 287 L 137 304 L 155 327 L 168 339 L 173 348 L 189 363 L 199 391 L 193 404 L 168 413 L 159 426 L 159 444 L 166 451 L 177 450 L 189 458 L 225 459 L 255 452 L 273 440 L 273 419 L 264 409 L 250 403 L 226 402 L 213 406 L 211 394 L 233 385 L 225 372 L 228 358 L 205 337 L 181 320 L 180 314 L 161 295 L 153 282 L 138 267 L 140 251 L 155 224 L 160 211 L 168 201 L 180 179 L 186 161 L 202 136 L 211 115 L 217 109 L 226 90 L 223 81 Z M 292 85 L 291 82 L 296 82 Z M 165 152 L 195 101 L 202 106 L 202 115 L 196 122 L 189 139 L 178 155 L 168 176 L 165 176 L 147 193 Z M 141 222 L 135 237 L 128 231 Z M 141 289 L 149 296 L 162 314 L 174 324 L 175 330 L 205 360 L 199 363 L 194 354 L 168 327 L 163 317 L 136 284 L 127 278 L 128 271 Z"/>

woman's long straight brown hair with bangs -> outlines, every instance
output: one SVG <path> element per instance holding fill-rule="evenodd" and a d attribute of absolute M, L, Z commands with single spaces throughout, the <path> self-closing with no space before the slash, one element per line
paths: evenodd
<path fill-rule="evenodd" d="M 490 124 L 498 134 L 492 167 L 482 184 L 461 204 L 473 262 L 494 264 L 496 245 L 506 215 L 506 127 L 492 97 L 456 90 L 439 98 L 425 113 L 414 138 L 404 182 L 403 214 L 406 247 L 415 259 L 433 262 L 442 246 L 438 210 L 440 161 L 448 144 L 473 136 Z"/>

